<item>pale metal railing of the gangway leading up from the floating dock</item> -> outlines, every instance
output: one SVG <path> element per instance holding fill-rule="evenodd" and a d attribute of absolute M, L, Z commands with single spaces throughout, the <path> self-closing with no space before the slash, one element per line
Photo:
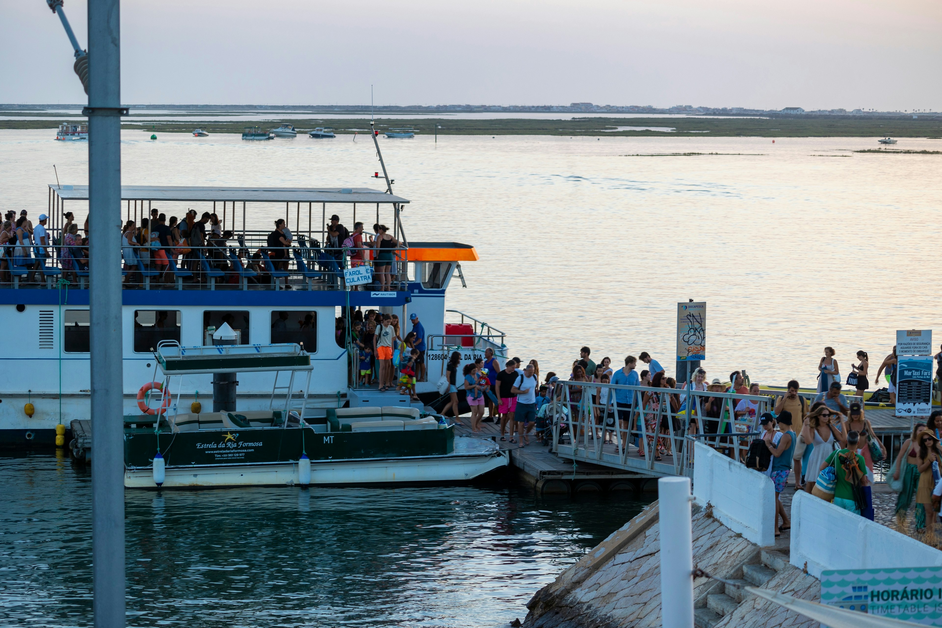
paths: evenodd
<path fill-rule="evenodd" d="M 607 395 L 599 394 L 605 390 Z M 617 401 L 619 391 L 627 401 Z M 742 460 L 749 447 L 745 439 L 757 433 L 762 413 L 771 411 L 765 395 L 690 391 L 687 402 L 686 390 L 591 381 L 559 380 L 550 395 L 553 451 L 650 475 L 692 475 L 694 438 Z M 755 408 L 738 417 L 742 400 Z M 662 451 L 673 454 L 670 466 L 658 464 Z"/>

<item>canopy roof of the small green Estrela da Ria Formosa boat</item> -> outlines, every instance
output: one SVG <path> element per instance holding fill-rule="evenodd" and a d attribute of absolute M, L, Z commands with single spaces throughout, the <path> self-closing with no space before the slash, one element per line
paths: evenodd
<path fill-rule="evenodd" d="M 227 345 L 227 346 L 157 346 L 157 363 L 164 375 L 202 375 L 208 373 L 247 373 L 256 371 L 310 371 L 310 354 L 300 346 Z"/>

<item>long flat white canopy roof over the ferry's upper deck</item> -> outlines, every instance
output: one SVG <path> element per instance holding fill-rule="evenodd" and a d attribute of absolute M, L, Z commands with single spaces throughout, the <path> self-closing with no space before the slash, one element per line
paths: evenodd
<path fill-rule="evenodd" d="M 88 185 L 49 187 L 60 199 L 88 201 Z M 409 202 L 370 187 L 203 187 L 122 185 L 122 201 Z"/>

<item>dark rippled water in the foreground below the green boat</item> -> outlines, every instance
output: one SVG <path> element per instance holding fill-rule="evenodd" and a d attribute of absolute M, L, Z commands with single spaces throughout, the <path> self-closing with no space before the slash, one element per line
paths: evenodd
<path fill-rule="evenodd" d="M 91 625 L 90 474 L 0 458 L 0 620 Z M 127 491 L 128 625 L 493 627 L 641 511 L 501 486 Z"/>

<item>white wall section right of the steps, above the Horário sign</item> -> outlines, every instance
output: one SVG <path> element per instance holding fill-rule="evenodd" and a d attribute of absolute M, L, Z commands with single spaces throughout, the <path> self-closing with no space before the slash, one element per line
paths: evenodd
<path fill-rule="evenodd" d="M 789 561 L 820 578 L 828 569 L 940 566 L 942 552 L 800 491 L 791 500 Z"/>

